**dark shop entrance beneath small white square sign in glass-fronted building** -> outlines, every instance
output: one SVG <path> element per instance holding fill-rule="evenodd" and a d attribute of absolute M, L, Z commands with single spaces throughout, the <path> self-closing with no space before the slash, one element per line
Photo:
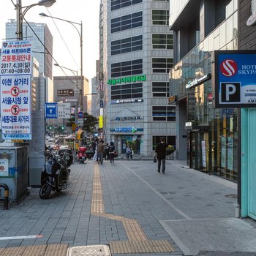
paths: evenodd
<path fill-rule="evenodd" d="M 195 170 L 208 170 L 208 133 L 187 132 L 187 165 Z"/>

